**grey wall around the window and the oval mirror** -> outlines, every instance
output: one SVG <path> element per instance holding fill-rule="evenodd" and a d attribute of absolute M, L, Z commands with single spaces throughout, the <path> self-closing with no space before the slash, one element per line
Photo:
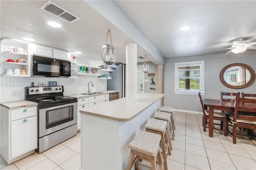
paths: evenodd
<path fill-rule="evenodd" d="M 168 58 L 164 61 L 164 106 L 175 109 L 201 111 L 197 95 L 174 94 L 174 63 L 204 60 L 205 68 L 205 96 L 202 98 L 220 99 L 220 92 L 245 92 L 256 94 L 256 82 L 247 88 L 232 89 L 220 82 L 220 71 L 228 64 L 248 64 L 254 72 L 256 70 L 256 51 L 246 51 L 240 55 L 202 55 L 192 57 Z"/>

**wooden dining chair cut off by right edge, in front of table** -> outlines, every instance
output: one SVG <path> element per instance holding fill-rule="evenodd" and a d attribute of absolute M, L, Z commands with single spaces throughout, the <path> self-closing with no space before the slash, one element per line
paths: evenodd
<path fill-rule="evenodd" d="M 240 114 L 240 111 L 250 112 L 251 115 Z M 236 96 L 234 115 L 228 117 L 228 121 L 233 125 L 232 135 L 234 144 L 236 144 L 237 127 L 256 130 L 256 99 L 239 98 Z"/>

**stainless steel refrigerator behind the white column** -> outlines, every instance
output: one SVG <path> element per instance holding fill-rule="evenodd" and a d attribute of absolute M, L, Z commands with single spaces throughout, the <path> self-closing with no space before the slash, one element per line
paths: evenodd
<path fill-rule="evenodd" d="M 109 76 L 112 77 L 108 80 L 108 90 L 118 90 L 119 98 L 125 97 L 125 64 L 115 63 L 111 65 L 112 72 Z"/>

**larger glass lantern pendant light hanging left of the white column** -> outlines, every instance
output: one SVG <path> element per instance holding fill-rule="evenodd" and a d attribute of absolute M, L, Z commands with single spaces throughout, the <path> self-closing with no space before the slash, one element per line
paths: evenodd
<path fill-rule="evenodd" d="M 111 45 L 107 44 L 108 33 L 110 35 Z M 114 62 L 116 61 L 116 51 L 114 50 L 114 47 L 113 47 L 110 29 L 108 29 L 108 32 L 107 32 L 106 42 L 104 45 L 104 50 L 102 55 L 102 61 L 105 64 L 114 64 Z"/>

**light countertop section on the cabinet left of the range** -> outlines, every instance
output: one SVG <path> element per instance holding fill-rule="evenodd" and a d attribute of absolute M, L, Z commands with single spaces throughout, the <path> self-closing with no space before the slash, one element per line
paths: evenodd
<path fill-rule="evenodd" d="M 28 100 L 19 100 L 14 102 L 2 102 L 0 105 L 6 107 L 7 109 L 18 109 L 20 107 L 33 107 L 37 106 L 38 104 Z"/>

